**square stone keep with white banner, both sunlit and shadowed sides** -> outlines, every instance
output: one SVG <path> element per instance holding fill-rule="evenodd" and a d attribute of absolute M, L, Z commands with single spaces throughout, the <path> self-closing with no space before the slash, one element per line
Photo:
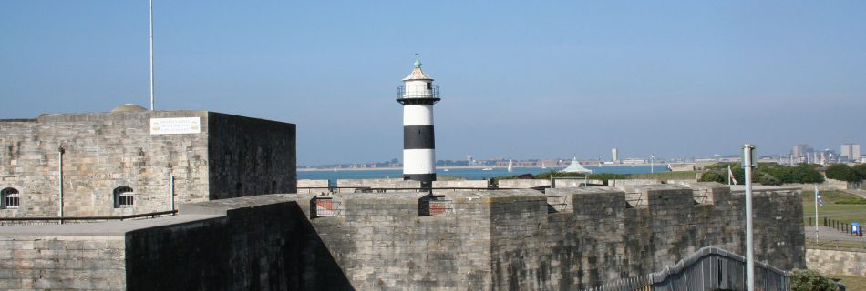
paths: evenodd
<path fill-rule="evenodd" d="M 295 126 L 250 117 L 120 105 L 6 119 L 0 149 L 0 217 L 126 216 L 296 192 Z"/>

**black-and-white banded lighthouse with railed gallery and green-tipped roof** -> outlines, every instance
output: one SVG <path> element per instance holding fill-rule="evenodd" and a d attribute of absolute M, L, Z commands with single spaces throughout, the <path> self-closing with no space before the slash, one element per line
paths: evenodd
<path fill-rule="evenodd" d="M 421 71 L 415 60 L 412 73 L 397 87 L 397 103 L 403 105 L 403 179 L 433 186 L 436 180 L 433 105 L 439 102 L 439 88 Z"/>

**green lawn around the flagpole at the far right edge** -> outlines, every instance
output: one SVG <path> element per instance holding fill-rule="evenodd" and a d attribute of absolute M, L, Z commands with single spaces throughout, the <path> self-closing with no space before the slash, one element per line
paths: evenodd
<path fill-rule="evenodd" d="M 824 217 L 836 219 L 843 222 L 860 222 L 866 224 L 866 205 L 836 204 L 835 201 L 858 199 L 860 196 L 851 195 L 841 191 L 821 191 L 821 199 L 824 206 L 819 211 L 819 219 Z M 808 226 L 809 217 L 815 217 L 815 192 L 803 191 L 803 221 Z"/>

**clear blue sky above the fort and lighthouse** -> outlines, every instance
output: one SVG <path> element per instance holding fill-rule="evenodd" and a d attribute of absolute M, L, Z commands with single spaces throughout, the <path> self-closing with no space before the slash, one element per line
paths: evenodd
<path fill-rule="evenodd" d="M 866 1 L 155 2 L 157 109 L 295 123 L 302 165 L 401 158 L 415 53 L 438 159 L 866 143 Z M 147 0 L 0 2 L 0 118 L 147 106 L 148 74 Z"/>

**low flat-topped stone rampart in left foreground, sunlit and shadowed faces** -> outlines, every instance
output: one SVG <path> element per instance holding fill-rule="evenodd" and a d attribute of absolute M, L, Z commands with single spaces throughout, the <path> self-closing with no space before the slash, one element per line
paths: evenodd
<path fill-rule="evenodd" d="M 3 289 L 345 289 L 309 224 L 310 196 L 183 205 L 179 216 L 0 227 Z M 306 201 L 301 207 L 296 201 Z"/>

